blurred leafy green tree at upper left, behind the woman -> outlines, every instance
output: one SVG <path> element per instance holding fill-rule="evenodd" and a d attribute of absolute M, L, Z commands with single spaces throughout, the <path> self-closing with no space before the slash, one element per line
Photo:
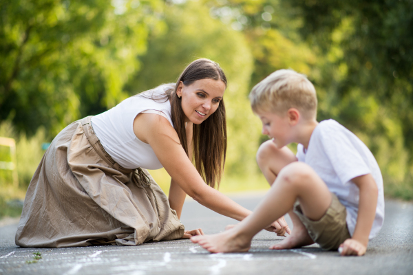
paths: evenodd
<path fill-rule="evenodd" d="M 0 1 L 0 122 L 50 136 L 127 97 L 162 1 Z"/>

